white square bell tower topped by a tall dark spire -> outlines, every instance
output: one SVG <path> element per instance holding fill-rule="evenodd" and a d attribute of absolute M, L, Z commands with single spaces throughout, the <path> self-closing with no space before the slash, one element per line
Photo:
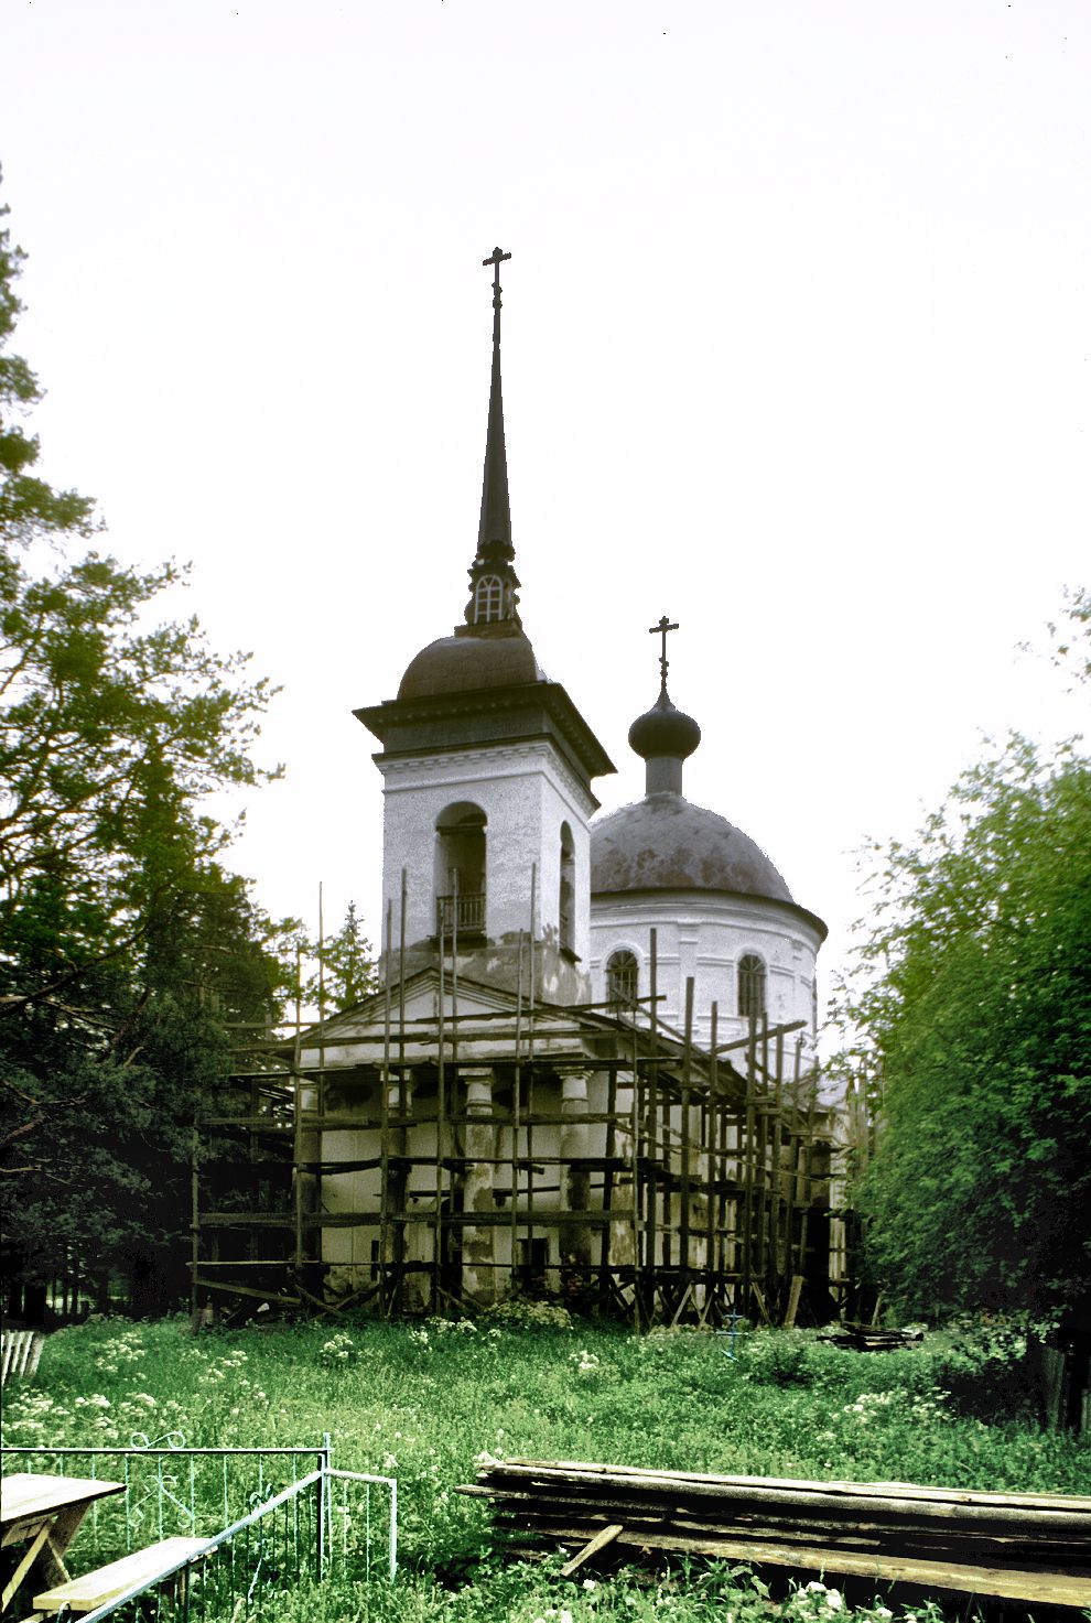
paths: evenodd
<path fill-rule="evenodd" d="M 589 997 L 591 779 L 614 766 L 520 620 L 500 388 L 510 258 L 482 261 L 492 381 L 464 620 L 420 649 L 395 700 L 354 714 L 383 747 L 383 915 L 393 901 L 398 938 L 404 872 L 408 974 L 456 954 L 459 974 L 515 990 L 533 958 L 534 995 L 573 1003 Z"/>

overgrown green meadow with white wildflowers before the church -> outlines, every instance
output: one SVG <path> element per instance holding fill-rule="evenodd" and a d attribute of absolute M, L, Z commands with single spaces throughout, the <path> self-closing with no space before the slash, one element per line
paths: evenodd
<path fill-rule="evenodd" d="M 886 1354 L 765 1331 L 740 1336 L 735 1357 L 729 1350 L 721 1336 L 636 1336 L 571 1324 L 549 1307 L 477 1323 L 278 1324 L 196 1337 L 182 1319 L 114 1319 L 49 1337 L 37 1380 L 5 1394 L 5 1441 L 128 1444 L 135 1433 L 180 1433 L 188 1446 L 313 1446 L 330 1431 L 336 1466 L 398 1479 L 403 1565 L 393 1589 L 338 1578 L 278 1597 L 273 1615 L 299 1623 L 959 1615 L 859 1592 L 849 1600 L 833 1579 L 807 1576 L 781 1579 L 770 1595 L 729 1563 L 563 1582 L 560 1560 L 505 1561 L 482 1503 L 455 1493 L 482 1454 L 1091 1493 L 1091 1440 L 1039 1428 L 1018 1342 L 1000 1331 L 930 1336 Z"/>

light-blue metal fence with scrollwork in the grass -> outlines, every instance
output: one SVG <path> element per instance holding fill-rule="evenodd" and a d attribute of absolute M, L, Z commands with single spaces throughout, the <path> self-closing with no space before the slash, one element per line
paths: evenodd
<path fill-rule="evenodd" d="M 73 1545 L 76 1573 L 175 1534 L 205 1539 L 86 1613 L 88 1623 L 138 1612 L 164 1623 L 276 1617 L 276 1595 L 287 1587 L 331 1576 L 393 1581 L 398 1569 L 398 1483 L 334 1470 L 328 1438 L 321 1448 L 5 1448 L 0 1459 L 5 1469 L 65 1474 L 78 1466 L 125 1483 L 123 1495 L 88 1513 Z"/>

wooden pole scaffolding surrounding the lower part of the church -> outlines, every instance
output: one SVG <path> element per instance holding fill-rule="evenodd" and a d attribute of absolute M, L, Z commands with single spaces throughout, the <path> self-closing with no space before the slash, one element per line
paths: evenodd
<path fill-rule="evenodd" d="M 802 1022 L 719 1044 L 713 1005 L 700 1047 L 688 980 L 671 1031 L 654 932 L 627 1008 L 524 997 L 533 941 L 511 1006 L 469 1008 L 443 946 L 432 1013 L 388 974 L 351 1037 L 334 1019 L 252 1045 L 203 1117 L 195 1311 L 451 1316 L 524 1294 L 638 1326 L 833 1316 L 831 1128 Z"/>

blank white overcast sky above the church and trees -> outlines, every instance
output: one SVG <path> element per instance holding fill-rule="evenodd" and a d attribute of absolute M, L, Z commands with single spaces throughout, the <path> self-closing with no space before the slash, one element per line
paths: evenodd
<path fill-rule="evenodd" d="M 378 935 L 351 711 L 461 620 L 494 243 L 523 620 L 619 766 L 825 917 L 1008 725 L 1091 570 L 1085 0 L 0 0 L 44 467 L 282 683 L 235 865 Z M 1086 695 L 1085 695 L 1086 701 Z"/>

